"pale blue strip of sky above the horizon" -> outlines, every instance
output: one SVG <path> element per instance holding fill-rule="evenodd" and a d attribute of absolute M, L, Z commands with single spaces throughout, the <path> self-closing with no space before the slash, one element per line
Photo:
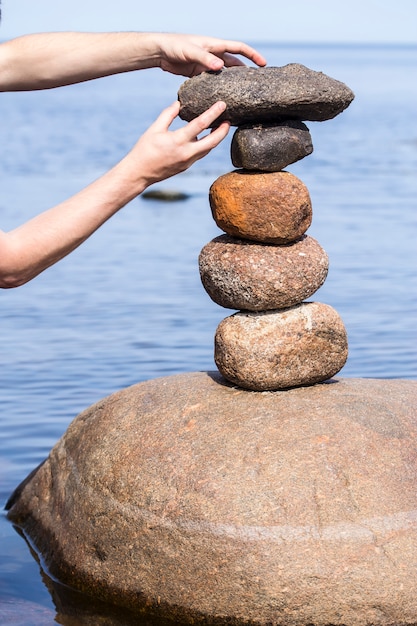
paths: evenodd
<path fill-rule="evenodd" d="M 416 0 L 2 0 L 0 39 L 164 31 L 248 43 L 417 43 Z"/>

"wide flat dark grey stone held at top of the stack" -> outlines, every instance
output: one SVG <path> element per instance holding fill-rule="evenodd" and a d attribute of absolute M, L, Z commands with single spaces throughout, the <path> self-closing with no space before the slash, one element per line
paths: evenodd
<path fill-rule="evenodd" d="M 286 119 L 324 121 L 344 111 L 353 98 L 344 83 L 298 63 L 203 72 L 178 91 L 183 120 L 190 121 L 223 100 L 227 109 L 214 125 L 228 120 L 233 126 Z"/>

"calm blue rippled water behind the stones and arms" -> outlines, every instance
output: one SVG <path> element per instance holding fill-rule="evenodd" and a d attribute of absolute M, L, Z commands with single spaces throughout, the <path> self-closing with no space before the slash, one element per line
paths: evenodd
<path fill-rule="evenodd" d="M 336 308 L 348 331 L 350 356 L 339 375 L 415 379 L 417 47 L 258 48 L 270 65 L 304 63 L 356 94 L 334 120 L 308 123 L 314 152 L 287 169 L 309 188 L 309 234 L 330 258 L 314 299 Z M 183 80 L 150 70 L 1 94 L 1 228 L 113 165 Z M 70 257 L 0 292 L 1 509 L 87 406 L 141 380 L 214 369 L 214 332 L 231 312 L 202 288 L 197 257 L 220 233 L 208 190 L 233 169 L 231 136 L 159 185 L 190 199 L 136 199 Z M 52 624 L 55 615 L 37 563 L 0 517 L 0 623 Z"/>

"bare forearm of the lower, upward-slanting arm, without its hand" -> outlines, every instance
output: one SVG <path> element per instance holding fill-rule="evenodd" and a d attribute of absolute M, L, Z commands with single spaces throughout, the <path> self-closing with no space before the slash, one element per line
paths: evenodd
<path fill-rule="evenodd" d="M 0 287 L 18 287 L 68 255 L 138 193 L 123 164 L 9 233 L 0 231 Z"/>

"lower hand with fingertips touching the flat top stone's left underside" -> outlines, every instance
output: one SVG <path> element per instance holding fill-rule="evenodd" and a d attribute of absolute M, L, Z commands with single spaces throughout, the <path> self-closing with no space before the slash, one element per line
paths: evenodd
<path fill-rule="evenodd" d="M 122 162 L 130 172 L 129 178 L 136 185 L 137 194 L 153 183 L 183 172 L 215 148 L 229 132 L 229 122 L 222 122 L 200 138 L 199 135 L 211 126 L 225 108 L 224 102 L 216 102 L 194 120 L 174 131 L 169 130 L 169 127 L 178 116 L 180 103 L 174 102 L 162 111 Z"/>

